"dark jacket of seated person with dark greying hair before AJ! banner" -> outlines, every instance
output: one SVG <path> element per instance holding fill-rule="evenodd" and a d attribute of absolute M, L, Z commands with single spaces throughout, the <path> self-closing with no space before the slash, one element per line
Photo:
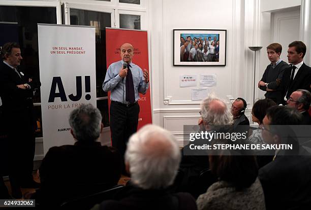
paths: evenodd
<path fill-rule="evenodd" d="M 116 185 L 121 174 L 121 158 L 111 147 L 100 142 L 51 147 L 40 169 L 41 189 L 37 202 L 59 204 L 78 196 L 103 191 Z"/>

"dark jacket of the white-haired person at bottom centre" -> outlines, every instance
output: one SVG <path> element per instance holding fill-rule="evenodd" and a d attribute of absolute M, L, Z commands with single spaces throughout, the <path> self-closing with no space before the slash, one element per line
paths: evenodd
<path fill-rule="evenodd" d="M 131 182 L 118 193 L 116 200 L 103 201 L 100 206 L 93 209 L 127 209 L 127 210 L 195 210 L 197 204 L 189 193 L 171 194 L 167 190 L 144 190 L 136 187 Z"/>

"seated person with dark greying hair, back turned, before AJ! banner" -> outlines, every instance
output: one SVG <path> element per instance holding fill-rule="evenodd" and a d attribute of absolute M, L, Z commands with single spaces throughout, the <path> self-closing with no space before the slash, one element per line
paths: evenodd
<path fill-rule="evenodd" d="M 42 205 L 103 191 L 120 178 L 119 153 L 97 142 L 103 129 L 101 112 L 81 104 L 70 113 L 69 123 L 75 144 L 51 147 L 39 169 L 41 189 L 33 198 Z"/>

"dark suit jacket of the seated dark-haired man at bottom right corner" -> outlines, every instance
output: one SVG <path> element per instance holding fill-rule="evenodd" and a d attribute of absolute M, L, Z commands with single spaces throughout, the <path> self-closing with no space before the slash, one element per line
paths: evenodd
<path fill-rule="evenodd" d="M 267 210 L 310 208 L 311 156 L 302 147 L 296 156 L 277 155 L 259 170 L 258 177 Z"/>

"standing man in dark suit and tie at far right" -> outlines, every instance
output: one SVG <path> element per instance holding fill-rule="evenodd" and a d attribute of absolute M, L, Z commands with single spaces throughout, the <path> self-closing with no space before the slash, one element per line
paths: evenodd
<path fill-rule="evenodd" d="M 311 91 L 311 68 L 303 63 L 306 52 L 305 44 L 302 41 L 293 41 L 288 47 L 287 58 L 292 66 L 284 71 L 281 82 L 284 90 L 284 105 L 297 89 Z"/>

